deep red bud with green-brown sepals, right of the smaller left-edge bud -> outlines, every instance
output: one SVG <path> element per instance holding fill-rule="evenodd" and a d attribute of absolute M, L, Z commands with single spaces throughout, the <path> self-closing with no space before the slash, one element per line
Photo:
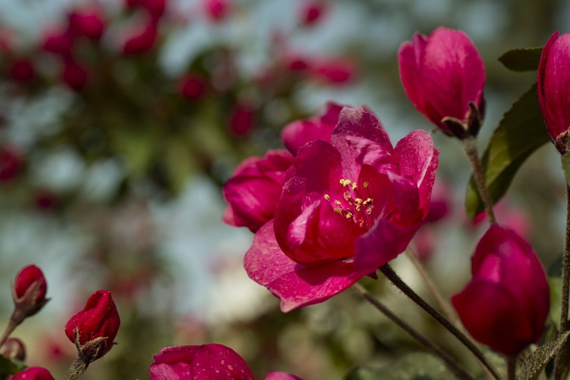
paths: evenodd
<path fill-rule="evenodd" d="M 85 308 L 67 321 L 65 335 L 75 343 L 79 357 L 91 363 L 113 347 L 120 324 L 111 292 L 97 290 L 89 297 Z"/>

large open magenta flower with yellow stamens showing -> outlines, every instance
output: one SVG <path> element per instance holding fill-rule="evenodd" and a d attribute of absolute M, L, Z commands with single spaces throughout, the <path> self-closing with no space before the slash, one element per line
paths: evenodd
<path fill-rule="evenodd" d="M 345 107 L 331 142 L 307 143 L 275 220 L 244 259 L 284 312 L 329 299 L 405 250 L 428 214 L 437 150 L 414 131 L 393 148 L 377 118 Z"/>

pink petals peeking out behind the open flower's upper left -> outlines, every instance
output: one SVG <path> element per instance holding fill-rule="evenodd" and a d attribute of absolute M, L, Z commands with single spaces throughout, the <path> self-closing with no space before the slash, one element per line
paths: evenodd
<path fill-rule="evenodd" d="M 333 102 L 327 103 L 327 110 L 322 116 L 309 120 L 297 120 L 284 127 L 281 138 L 285 148 L 293 155 L 309 141 L 329 141 L 332 129 L 339 122 L 339 113 L 343 106 Z"/>

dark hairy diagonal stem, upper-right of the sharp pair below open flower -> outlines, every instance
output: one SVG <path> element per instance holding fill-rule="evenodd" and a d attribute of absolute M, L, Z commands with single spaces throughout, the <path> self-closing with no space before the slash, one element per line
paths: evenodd
<path fill-rule="evenodd" d="M 482 365 L 485 365 L 485 367 L 487 367 L 487 370 L 491 372 L 491 374 L 496 380 L 500 380 L 500 376 L 497 370 L 493 365 L 491 365 L 491 363 L 489 363 L 489 361 L 487 361 L 487 358 L 485 358 L 485 355 L 483 355 L 481 350 L 478 349 L 477 346 L 475 346 L 475 344 L 464 335 L 464 333 L 459 331 L 457 327 L 453 326 L 453 324 L 451 324 L 451 322 L 449 322 L 448 319 L 446 319 L 446 317 L 443 317 L 443 315 L 441 315 L 437 310 L 432 308 L 432 306 L 430 306 L 429 303 L 425 302 L 423 298 L 421 298 L 421 296 L 418 296 L 418 294 L 414 292 L 414 290 L 412 290 L 412 288 L 409 287 L 407 283 L 405 283 L 404 280 L 402 280 L 402 278 L 398 276 L 398 274 L 396 274 L 396 272 L 390 267 L 389 264 L 384 264 L 384 266 L 380 267 L 380 271 L 382 271 L 384 276 L 386 276 L 391 281 L 391 283 L 393 283 L 393 285 L 398 287 L 399 290 L 401 290 L 404 294 L 406 294 L 409 297 L 409 299 L 412 299 L 412 301 L 414 301 L 418 306 L 423 308 L 425 312 L 427 312 L 437 322 L 439 322 L 441 326 L 443 326 L 450 333 L 452 333 L 455 336 L 455 338 L 459 340 L 459 342 L 462 342 L 463 345 L 467 347 L 467 349 L 469 349 L 469 351 L 471 351 L 471 353 L 475 355 L 476 358 L 479 359 Z"/>

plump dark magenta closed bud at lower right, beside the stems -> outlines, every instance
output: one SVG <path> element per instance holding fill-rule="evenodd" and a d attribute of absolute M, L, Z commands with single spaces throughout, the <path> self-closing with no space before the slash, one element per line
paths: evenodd
<path fill-rule="evenodd" d="M 473 338 L 505 355 L 536 343 L 550 292 L 532 247 L 514 231 L 491 225 L 475 248 L 471 274 L 451 301 Z"/>

